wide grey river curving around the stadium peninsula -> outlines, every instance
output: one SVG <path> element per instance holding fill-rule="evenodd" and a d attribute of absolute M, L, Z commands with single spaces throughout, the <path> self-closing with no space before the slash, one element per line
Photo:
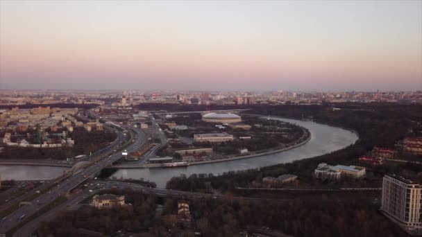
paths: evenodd
<path fill-rule="evenodd" d="M 274 118 L 271 118 L 274 119 Z M 339 150 L 349 146 L 358 137 L 355 133 L 341 128 L 335 128 L 320 123 L 310 121 L 298 121 L 294 119 L 278 119 L 289 123 L 301 125 L 311 132 L 311 139 L 303 146 L 260 157 L 247 159 L 237 159 L 233 161 L 221 161 L 217 163 L 201 164 L 181 168 L 140 168 L 140 169 L 120 169 L 113 175 L 117 178 L 132 178 L 153 181 L 159 188 L 164 188 L 166 182 L 171 177 L 194 173 L 213 173 L 218 175 L 230 170 L 245 170 L 248 168 L 258 168 L 273 164 L 287 163 L 298 159 L 316 157 Z M 1 179 L 51 179 L 61 175 L 67 168 L 49 166 L 0 166 Z"/>

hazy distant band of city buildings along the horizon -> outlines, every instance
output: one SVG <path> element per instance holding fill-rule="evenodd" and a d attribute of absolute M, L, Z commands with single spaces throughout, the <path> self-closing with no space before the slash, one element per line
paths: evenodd
<path fill-rule="evenodd" d="M 0 91 L 1 105 L 99 104 L 131 106 L 142 103 L 185 105 L 321 105 L 321 103 L 422 103 L 422 91 L 341 91 L 341 92 L 219 92 L 219 91 Z"/>

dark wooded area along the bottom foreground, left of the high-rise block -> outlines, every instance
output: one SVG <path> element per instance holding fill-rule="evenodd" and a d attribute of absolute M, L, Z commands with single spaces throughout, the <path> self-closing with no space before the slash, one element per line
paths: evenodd
<path fill-rule="evenodd" d="M 181 198 L 164 200 L 154 195 L 126 195 L 127 207 L 98 210 L 84 207 L 62 211 L 53 222 L 43 223 L 44 236 L 83 236 L 80 229 L 113 236 L 117 231 L 133 236 L 240 236 L 264 229 L 292 236 L 407 236 L 377 208 L 360 200 L 246 200 L 242 198 L 184 197 L 190 218 L 177 215 Z M 157 209 L 162 203 L 162 211 Z"/>

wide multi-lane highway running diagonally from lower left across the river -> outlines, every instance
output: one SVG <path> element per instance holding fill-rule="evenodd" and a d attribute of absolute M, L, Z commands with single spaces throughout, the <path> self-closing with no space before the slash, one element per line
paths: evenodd
<path fill-rule="evenodd" d="M 133 143 L 131 143 L 130 146 L 126 148 L 127 152 L 133 152 L 137 150 L 137 147 L 143 146 L 146 139 L 145 139 L 144 133 L 141 132 L 139 129 L 126 128 L 126 131 L 128 130 L 135 132 L 135 135 L 136 135 L 136 139 L 134 139 Z M 10 231 L 10 229 L 17 227 L 17 225 L 19 225 L 19 218 L 21 216 L 26 215 L 25 218 L 33 216 L 35 213 L 37 213 L 37 210 L 42 209 L 42 207 L 47 206 L 50 202 L 53 202 L 53 200 L 56 200 L 56 198 L 58 198 L 60 195 L 65 195 L 69 190 L 78 186 L 89 177 L 92 177 L 92 175 L 99 173 L 101 169 L 103 169 L 104 167 L 109 166 L 113 162 L 121 159 L 122 157 L 121 151 L 117 151 L 117 148 L 122 145 L 123 141 L 126 139 L 126 137 L 129 136 L 129 134 L 128 132 L 125 132 L 125 133 L 118 132 L 117 134 L 119 134 L 118 139 L 117 141 L 115 141 L 115 143 L 113 143 L 112 146 L 109 146 L 108 148 L 101 150 L 99 152 L 100 155 L 96 155 L 95 157 L 88 158 L 90 161 L 93 162 L 92 165 L 88 166 L 87 168 L 83 168 L 83 170 L 76 172 L 74 175 L 67 178 L 65 181 L 56 182 L 57 186 L 51 188 L 51 190 L 48 191 L 47 193 L 39 195 L 32 205 L 24 206 L 10 213 L 4 220 L 0 222 L 0 234 L 6 234 L 6 232 Z M 115 150 L 112 150 L 113 148 Z M 108 155 L 109 152 L 114 152 L 114 153 L 112 153 L 112 155 L 110 155 L 109 157 L 103 158 L 105 155 Z M 21 200 L 24 200 L 24 198 L 18 198 L 16 201 L 20 202 Z M 8 206 L 10 207 L 10 204 L 8 204 Z M 3 209 L 7 209 L 7 208 L 8 207 L 3 208 Z"/>

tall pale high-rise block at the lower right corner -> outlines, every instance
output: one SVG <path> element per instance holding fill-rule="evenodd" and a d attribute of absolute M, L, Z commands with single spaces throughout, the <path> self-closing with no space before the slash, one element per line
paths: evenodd
<path fill-rule="evenodd" d="M 422 234 L 422 186 L 398 175 L 382 179 L 381 211 L 409 234 Z"/>

